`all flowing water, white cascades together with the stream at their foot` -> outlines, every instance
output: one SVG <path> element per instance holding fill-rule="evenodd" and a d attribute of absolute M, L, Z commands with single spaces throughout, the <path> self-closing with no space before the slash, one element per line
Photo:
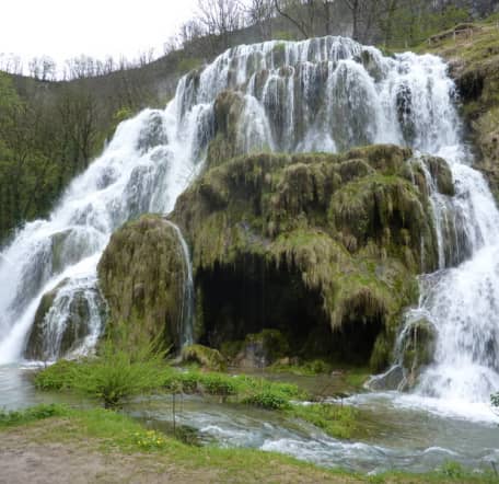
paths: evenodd
<path fill-rule="evenodd" d="M 47 220 L 18 232 L 0 254 L 0 406 L 45 399 L 20 365 L 47 292 L 59 290 L 44 320 L 44 360 L 91 350 L 104 323 L 96 265 L 111 234 L 140 214 L 173 209 L 202 169 L 216 136 L 217 97 L 225 90 L 236 92 L 242 106 L 233 140 L 237 153 L 343 151 L 386 142 L 446 160 L 456 195 L 431 194 L 440 267 L 421 276 L 420 303 L 405 322 L 407 327 L 425 318 L 432 325 L 434 362 L 410 394 L 372 392 L 346 402 L 373 415 L 372 434 L 358 442 L 197 399 L 185 402 L 179 418 L 208 440 L 279 450 L 324 465 L 419 471 L 446 459 L 472 466 L 498 460 L 498 417 L 489 397 L 499 390 L 499 211 L 472 168 L 454 84 L 434 56 L 388 58 L 341 37 L 240 46 L 187 74 L 165 110 L 146 110 L 118 127 Z M 414 162 L 422 163 L 417 155 Z M 185 279 L 190 284 L 189 270 Z M 76 300 L 85 301 L 89 318 L 79 331 L 84 337 L 65 352 L 60 342 Z M 185 342 L 192 335 L 186 321 Z M 160 423 L 167 407 L 159 399 L 130 412 Z"/>

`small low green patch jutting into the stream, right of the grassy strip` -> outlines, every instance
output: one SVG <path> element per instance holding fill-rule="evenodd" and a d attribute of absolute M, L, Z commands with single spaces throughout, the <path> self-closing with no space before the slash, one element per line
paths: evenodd
<path fill-rule="evenodd" d="M 358 426 L 358 411 L 346 405 L 293 405 L 289 414 L 315 425 L 332 437 L 343 439 L 351 438 Z"/>

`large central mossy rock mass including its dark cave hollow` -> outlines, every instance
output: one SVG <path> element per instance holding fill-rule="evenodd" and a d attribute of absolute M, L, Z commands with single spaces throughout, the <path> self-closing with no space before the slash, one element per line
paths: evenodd
<path fill-rule="evenodd" d="M 172 215 L 193 245 L 201 341 L 220 347 L 272 329 L 293 356 L 365 365 L 374 353 L 373 367 L 385 365 L 417 300 L 415 275 L 438 264 L 429 187 L 411 160 L 373 146 L 246 155 L 205 172 Z M 445 162 L 428 165 L 451 194 Z"/>

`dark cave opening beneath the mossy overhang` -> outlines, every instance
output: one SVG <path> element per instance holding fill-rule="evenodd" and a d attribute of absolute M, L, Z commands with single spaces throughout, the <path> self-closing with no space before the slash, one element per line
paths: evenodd
<path fill-rule="evenodd" d="M 307 288 L 300 270 L 285 261 L 245 255 L 228 265 L 216 263 L 198 272 L 196 286 L 199 343 L 214 348 L 278 330 L 289 344 L 288 356 L 365 365 L 383 327 L 381 318 L 365 318 L 353 304 L 341 330 L 332 331 L 321 292 Z"/>

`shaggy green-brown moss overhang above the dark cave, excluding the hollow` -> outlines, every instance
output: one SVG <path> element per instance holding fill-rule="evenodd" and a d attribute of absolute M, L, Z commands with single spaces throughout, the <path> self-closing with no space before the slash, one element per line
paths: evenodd
<path fill-rule="evenodd" d="M 417 300 L 415 275 L 438 258 L 429 189 L 411 157 L 374 146 L 227 160 L 179 197 L 173 219 L 193 244 L 196 274 L 264 261 L 298 273 L 305 290 L 321 295 L 332 330 L 380 327 L 385 342 L 372 360 L 379 368 L 404 308 Z M 446 164 L 426 163 L 451 194 Z"/>

